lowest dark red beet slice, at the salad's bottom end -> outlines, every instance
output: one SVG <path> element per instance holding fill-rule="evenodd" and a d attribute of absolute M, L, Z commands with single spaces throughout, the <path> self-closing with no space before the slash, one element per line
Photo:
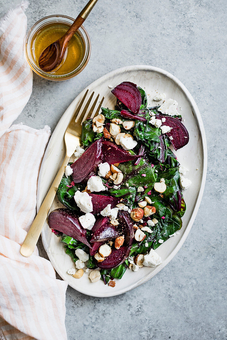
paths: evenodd
<path fill-rule="evenodd" d="M 112 269 L 115 268 L 121 263 L 123 263 L 126 258 L 128 258 L 131 250 L 131 246 L 121 246 L 119 249 L 112 249 L 111 254 L 105 258 L 102 262 L 96 262 L 96 266 L 101 269 Z"/>

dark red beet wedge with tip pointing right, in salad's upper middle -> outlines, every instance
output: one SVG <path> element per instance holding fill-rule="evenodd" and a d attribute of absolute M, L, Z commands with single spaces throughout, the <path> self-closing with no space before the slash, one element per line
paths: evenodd
<path fill-rule="evenodd" d="M 126 150 L 119 148 L 116 144 L 105 140 L 103 141 L 103 162 L 108 164 L 127 162 L 138 158 L 137 155 L 131 155 Z"/>

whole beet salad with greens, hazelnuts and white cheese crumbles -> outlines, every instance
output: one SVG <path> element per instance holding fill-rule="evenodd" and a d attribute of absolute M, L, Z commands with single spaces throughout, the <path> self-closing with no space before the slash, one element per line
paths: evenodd
<path fill-rule="evenodd" d="M 75 262 L 67 271 L 114 287 L 127 268 L 162 263 L 155 249 L 182 227 L 184 177 L 174 150 L 189 141 L 178 103 L 156 94 L 148 107 L 145 90 L 122 82 L 111 91 L 114 110 L 82 125 L 74 163 L 58 187 L 65 208 L 50 212 L 49 227 Z"/>

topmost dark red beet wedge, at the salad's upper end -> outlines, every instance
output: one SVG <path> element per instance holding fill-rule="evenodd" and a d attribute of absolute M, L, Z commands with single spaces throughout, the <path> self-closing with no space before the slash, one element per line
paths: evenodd
<path fill-rule="evenodd" d="M 131 82 L 123 82 L 112 89 L 112 94 L 115 95 L 127 108 L 135 114 L 138 114 L 142 98 L 136 84 Z"/>

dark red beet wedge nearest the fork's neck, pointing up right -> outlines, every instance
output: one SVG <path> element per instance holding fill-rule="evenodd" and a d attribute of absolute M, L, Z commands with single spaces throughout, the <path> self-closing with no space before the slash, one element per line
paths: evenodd
<path fill-rule="evenodd" d="M 96 170 L 102 162 L 102 139 L 96 140 L 87 150 L 71 165 L 73 169 L 73 181 L 80 183 Z"/>

